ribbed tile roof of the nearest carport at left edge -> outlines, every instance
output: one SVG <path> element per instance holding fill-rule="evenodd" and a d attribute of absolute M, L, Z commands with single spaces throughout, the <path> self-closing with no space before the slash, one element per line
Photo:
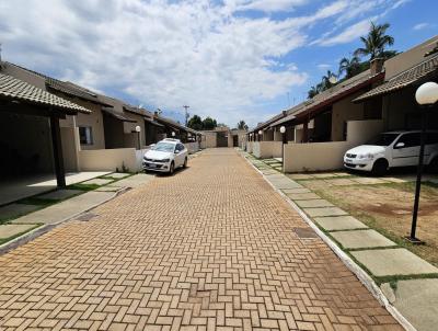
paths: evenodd
<path fill-rule="evenodd" d="M 91 113 L 90 110 L 36 88 L 12 76 L 0 73 L 0 98 L 35 105 L 56 107 L 66 113 Z"/>

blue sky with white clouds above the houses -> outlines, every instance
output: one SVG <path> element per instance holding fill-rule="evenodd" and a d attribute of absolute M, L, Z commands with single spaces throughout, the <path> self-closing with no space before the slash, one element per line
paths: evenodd
<path fill-rule="evenodd" d="M 255 125 L 301 102 L 389 22 L 404 50 L 438 32 L 436 0 L 3 0 L 2 58 L 183 121 Z"/>

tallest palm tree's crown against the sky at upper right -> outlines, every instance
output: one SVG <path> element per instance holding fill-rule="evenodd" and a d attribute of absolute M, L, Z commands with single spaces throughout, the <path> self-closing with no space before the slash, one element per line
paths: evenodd
<path fill-rule="evenodd" d="M 364 47 L 357 48 L 355 56 L 370 56 L 370 60 L 384 55 L 384 48 L 394 44 L 394 37 L 385 34 L 390 27 L 389 23 L 376 24 L 371 22 L 366 37 L 360 37 Z"/>

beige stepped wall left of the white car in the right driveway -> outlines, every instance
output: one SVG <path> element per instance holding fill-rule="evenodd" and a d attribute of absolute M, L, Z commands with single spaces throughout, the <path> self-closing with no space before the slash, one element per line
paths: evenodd
<path fill-rule="evenodd" d="M 285 172 L 324 171 L 343 168 L 345 152 L 383 130 L 383 121 L 350 121 L 347 141 L 285 145 Z"/>

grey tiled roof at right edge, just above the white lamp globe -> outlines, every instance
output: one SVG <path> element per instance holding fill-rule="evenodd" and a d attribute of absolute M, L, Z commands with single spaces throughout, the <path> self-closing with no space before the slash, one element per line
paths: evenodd
<path fill-rule="evenodd" d="M 388 94 L 411 85 L 433 72 L 438 71 L 438 54 L 434 54 L 418 65 L 394 76 L 385 83 L 372 89 L 371 91 L 356 98 L 353 102 L 362 102 L 367 99 Z"/>

